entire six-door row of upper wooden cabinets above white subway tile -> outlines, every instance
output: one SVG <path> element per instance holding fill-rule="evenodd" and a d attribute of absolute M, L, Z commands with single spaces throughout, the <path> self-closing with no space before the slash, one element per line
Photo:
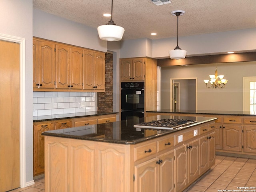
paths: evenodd
<path fill-rule="evenodd" d="M 33 90 L 104 92 L 105 53 L 33 38 Z"/>

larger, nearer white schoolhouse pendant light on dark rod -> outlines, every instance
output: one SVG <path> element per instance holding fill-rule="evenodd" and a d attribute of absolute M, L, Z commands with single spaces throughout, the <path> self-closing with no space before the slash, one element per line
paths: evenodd
<path fill-rule="evenodd" d="M 112 20 L 112 12 L 113 12 L 113 0 L 111 6 L 111 18 L 110 21 L 106 25 L 98 26 L 98 34 L 100 39 L 105 41 L 119 41 L 122 39 L 124 34 L 124 28 L 117 26 L 115 22 Z"/>

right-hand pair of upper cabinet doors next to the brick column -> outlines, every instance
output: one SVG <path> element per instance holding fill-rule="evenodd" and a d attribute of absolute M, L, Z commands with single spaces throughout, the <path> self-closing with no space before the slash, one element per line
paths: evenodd
<path fill-rule="evenodd" d="M 84 90 L 105 90 L 105 54 L 84 50 Z"/>

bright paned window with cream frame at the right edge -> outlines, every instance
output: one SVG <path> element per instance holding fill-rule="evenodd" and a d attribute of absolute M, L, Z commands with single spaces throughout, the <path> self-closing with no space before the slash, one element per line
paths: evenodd
<path fill-rule="evenodd" d="M 244 77 L 243 84 L 243 110 L 256 114 L 256 77 Z"/>

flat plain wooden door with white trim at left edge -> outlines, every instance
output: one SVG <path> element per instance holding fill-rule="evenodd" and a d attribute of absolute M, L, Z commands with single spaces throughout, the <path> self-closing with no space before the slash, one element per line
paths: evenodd
<path fill-rule="evenodd" d="M 20 45 L 0 40 L 0 192 L 20 187 Z"/>

